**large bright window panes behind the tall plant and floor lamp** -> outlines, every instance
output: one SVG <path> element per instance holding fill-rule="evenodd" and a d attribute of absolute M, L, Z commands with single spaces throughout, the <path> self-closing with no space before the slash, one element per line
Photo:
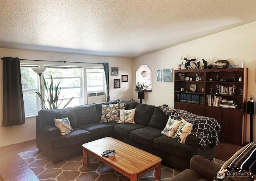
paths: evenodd
<path fill-rule="evenodd" d="M 58 108 L 68 102 L 70 98 L 73 100 L 67 107 L 83 104 L 84 93 L 82 92 L 82 66 L 60 66 L 60 65 L 40 65 L 46 67 L 46 71 L 42 74 L 42 80 L 45 79 L 46 83 L 50 85 L 50 75 L 53 78 L 53 85 L 57 85 L 60 82 L 59 101 L 62 98 L 64 100 Z M 25 116 L 36 115 L 40 110 L 40 98 L 34 92 L 40 92 L 39 89 L 39 76 L 32 71 L 33 67 L 39 67 L 37 64 L 24 64 L 21 63 L 21 79 L 22 79 L 22 92 L 24 98 Z M 46 94 L 46 90 L 45 90 Z"/>

